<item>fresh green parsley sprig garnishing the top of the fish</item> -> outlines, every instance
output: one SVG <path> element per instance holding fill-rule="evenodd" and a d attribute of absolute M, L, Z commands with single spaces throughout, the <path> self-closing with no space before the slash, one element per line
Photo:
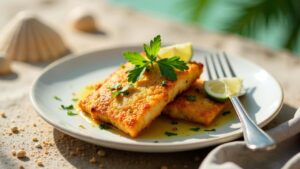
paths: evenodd
<path fill-rule="evenodd" d="M 146 57 L 143 57 L 137 52 L 124 52 L 124 58 L 134 65 L 132 70 L 128 71 L 128 81 L 136 82 L 139 77 L 145 72 L 146 69 L 150 70 L 154 64 L 157 64 L 160 70 L 160 74 L 166 77 L 168 80 L 177 80 L 175 69 L 186 70 L 187 64 L 182 61 L 178 56 L 170 58 L 159 59 L 157 57 L 158 51 L 161 47 L 160 35 L 157 35 L 150 44 L 144 44 L 144 52 Z"/>

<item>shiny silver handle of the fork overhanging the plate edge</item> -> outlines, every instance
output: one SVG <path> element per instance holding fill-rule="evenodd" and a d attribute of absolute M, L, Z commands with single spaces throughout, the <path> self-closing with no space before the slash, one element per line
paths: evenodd
<path fill-rule="evenodd" d="M 229 99 L 241 121 L 246 146 L 252 150 L 275 148 L 274 140 L 251 120 L 238 96 Z"/>

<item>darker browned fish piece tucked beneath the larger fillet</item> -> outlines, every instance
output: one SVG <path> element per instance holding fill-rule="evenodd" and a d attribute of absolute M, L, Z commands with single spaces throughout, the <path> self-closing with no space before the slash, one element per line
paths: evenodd
<path fill-rule="evenodd" d="M 225 104 L 207 98 L 203 81 L 197 79 L 188 90 L 182 92 L 165 107 L 163 114 L 176 119 L 210 125 L 224 109 Z"/>

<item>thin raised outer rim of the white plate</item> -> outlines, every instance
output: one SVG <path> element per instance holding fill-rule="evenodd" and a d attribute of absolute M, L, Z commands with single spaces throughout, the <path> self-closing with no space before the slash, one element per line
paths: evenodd
<path fill-rule="evenodd" d="M 115 141 L 115 140 L 107 140 L 107 139 L 102 139 L 102 138 L 95 138 L 95 137 L 91 137 L 88 134 L 84 134 L 84 133 L 78 133 L 75 132 L 73 130 L 69 130 L 68 128 L 63 128 L 59 125 L 57 125 L 54 121 L 52 121 L 51 119 L 48 119 L 45 116 L 45 112 L 39 108 L 38 103 L 36 98 L 34 97 L 34 91 L 36 89 L 36 86 L 38 85 L 39 79 L 43 77 L 43 75 L 48 72 L 49 70 L 51 70 L 53 67 L 62 64 L 68 60 L 72 60 L 78 57 L 82 57 L 84 55 L 92 55 L 93 53 L 98 53 L 98 52 L 103 52 L 103 51 L 113 51 L 113 50 L 121 50 L 121 49 L 129 49 L 129 48 L 141 48 L 140 45 L 120 45 L 120 46 L 113 46 L 113 47 L 108 47 L 108 48 L 101 48 L 101 49 L 96 49 L 96 50 L 92 50 L 92 51 L 87 51 L 87 52 L 78 52 L 78 53 L 71 53 L 63 58 L 60 58 L 52 63 L 50 63 L 46 68 L 44 68 L 42 70 L 42 72 L 38 75 L 38 77 L 34 80 L 31 90 L 30 90 L 30 100 L 31 103 L 34 107 L 34 109 L 36 110 L 37 114 L 44 119 L 47 123 L 49 123 L 50 125 L 52 125 L 54 128 L 58 129 L 59 131 L 66 133 L 68 135 L 71 135 L 72 137 L 75 137 L 77 139 L 80 140 L 84 140 L 86 142 L 90 142 L 93 144 L 98 144 L 98 145 L 102 145 L 105 147 L 110 147 L 110 148 L 115 148 L 115 149 L 122 149 L 122 150 L 127 150 L 127 151 L 139 151 L 139 152 L 177 152 L 177 151 L 186 151 L 186 150 L 191 150 L 191 149 L 196 149 L 196 148 L 203 148 L 203 147 L 208 147 L 208 146 L 212 146 L 212 145 L 216 145 L 219 143 L 223 143 L 223 142 L 227 142 L 227 141 L 232 141 L 234 139 L 239 138 L 242 135 L 242 129 L 238 129 L 235 131 L 232 131 L 230 133 L 226 133 L 223 134 L 222 137 L 217 137 L 217 138 L 209 138 L 206 139 L 204 141 L 197 141 L 197 142 L 190 142 L 190 143 L 182 143 L 182 142 L 173 142 L 173 143 L 152 143 L 152 142 L 119 142 L 119 141 Z M 213 50 L 203 50 L 199 47 L 194 47 L 194 50 L 198 50 L 198 51 L 203 51 L 203 52 L 207 52 L 207 53 L 213 53 L 215 51 Z M 230 55 L 232 56 L 232 55 Z M 232 57 L 237 57 L 237 56 L 232 56 Z M 283 92 L 283 88 L 282 85 L 279 83 L 279 81 L 268 71 L 266 71 L 264 68 L 262 68 L 261 66 L 257 65 L 256 63 L 249 61 L 245 58 L 242 57 L 238 57 L 239 59 L 245 60 L 250 64 L 253 64 L 255 66 L 257 66 L 258 68 L 260 68 L 261 70 L 263 70 L 264 72 L 266 72 L 271 78 L 274 79 L 274 81 L 277 83 L 277 85 L 279 86 L 279 91 L 280 91 L 280 104 L 278 105 L 278 108 L 273 112 L 273 114 L 267 118 L 265 121 L 261 122 L 260 124 L 258 124 L 258 126 L 260 128 L 264 127 L 265 125 L 267 125 L 268 123 L 270 123 L 280 112 L 282 106 L 283 106 L 283 99 L 284 99 L 284 92 Z M 101 143 L 100 143 L 101 142 Z M 103 144 L 102 144 L 103 143 Z M 202 143 L 202 145 L 200 144 Z M 206 144 L 203 144 L 206 143 Z M 113 144 L 113 145 L 118 145 L 118 146 L 108 146 L 109 144 Z M 168 151 L 165 151 L 168 148 L 171 147 L 176 147 L 176 146 L 187 146 L 185 148 L 175 148 L 175 149 L 170 149 Z M 125 146 L 125 148 L 123 147 Z M 128 147 L 126 147 L 128 146 Z M 130 149 L 129 146 L 137 146 L 133 149 Z M 143 149 L 139 149 L 139 147 L 143 147 Z M 149 148 L 153 148 L 153 146 L 158 147 L 158 148 L 162 148 L 163 149 L 149 149 Z M 147 149 L 147 150 L 146 150 Z M 149 150 L 148 150 L 149 149 Z"/>

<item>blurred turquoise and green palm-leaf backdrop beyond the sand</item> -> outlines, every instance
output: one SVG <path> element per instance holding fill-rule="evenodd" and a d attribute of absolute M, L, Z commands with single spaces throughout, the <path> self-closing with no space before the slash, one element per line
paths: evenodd
<path fill-rule="evenodd" d="M 300 0 L 109 0 L 202 29 L 235 33 L 300 56 Z"/>

